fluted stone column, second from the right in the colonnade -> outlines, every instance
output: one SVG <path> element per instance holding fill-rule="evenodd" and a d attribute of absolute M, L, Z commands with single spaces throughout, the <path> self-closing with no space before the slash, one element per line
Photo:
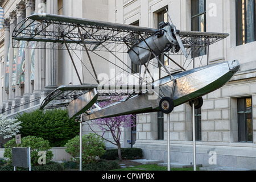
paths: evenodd
<path fill-rule="evenodd" d="M 35 0 L 35 13 L 46 13 L 44 5 L 45 0 Z M 38 43 L 38 48 L 35 49 L 35 81 L 34 94 L 36 97 L 41 97 L 44 86 L 46 85 L 46 49 L 45 43 Z"/>

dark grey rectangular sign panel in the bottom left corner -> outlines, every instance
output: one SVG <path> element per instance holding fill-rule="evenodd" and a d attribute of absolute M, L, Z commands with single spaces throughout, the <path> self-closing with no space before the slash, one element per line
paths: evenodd
<path fill-rule="evenodd" d="M 12 148 L 14 167 L 30 168 L 30 147 Z"/>

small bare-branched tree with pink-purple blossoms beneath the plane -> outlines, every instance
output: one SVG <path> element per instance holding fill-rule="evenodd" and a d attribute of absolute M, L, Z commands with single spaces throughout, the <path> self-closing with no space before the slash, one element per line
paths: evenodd
<path fill-rule="evenodd" d="M 101 102 L 100 107 L 108 106 L 108 105 L 112 104 L 112 102 L 119 101 L 119 100 L 122 100 L 122 99 L 123 99 L 122 96 L 110 97 L 110 100 L 108 102 Z M 103 131 L 103 134 L 101 135 L 101 137 L 104 140 L 106 140 L 106 141 L 114 144 L 115 146 L 117 146 L 118 158 L 119 158 L 120 161 L 122 161 L 121 143 L 120 143 L 121 131 L 122 131 L 123 128 L 134 127 L 135 126 L 135 123 L 134 123 L 135 119 L 136 118 L 135 118 L 134 115 L 129 114 L 129 115 L 121 115 L 121 116 L 117 116 L 117 117 L 112 117 L 112 118 L 95 119 L 95 120 L 91 121 L 92 123 L 89 124 L 88 121 L 87 121 L 87 123 L 88 123 L 90 129 L 94 133 L 96 133 L 96 131 L 93 130 L 93 126 L 94 125 L 98 126 L 101 129 L 101 131 Z M 110 132 L 112 134 L 114 142 L 112 142 L 111 140 L 106 139 L 104 137 L 104 135 L 107 132 Z"/>

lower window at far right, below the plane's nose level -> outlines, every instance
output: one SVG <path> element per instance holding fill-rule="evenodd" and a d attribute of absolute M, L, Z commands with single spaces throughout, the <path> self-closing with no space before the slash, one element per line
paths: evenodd
<path fill-rule="evenodd" d="M 238 141 L 253 142 L 251 97 L 237 99 Z"/>

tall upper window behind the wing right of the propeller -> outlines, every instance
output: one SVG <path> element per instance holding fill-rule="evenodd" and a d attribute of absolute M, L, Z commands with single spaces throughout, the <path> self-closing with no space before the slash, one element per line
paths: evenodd
<path fill-rule="evenodd" d="M 191 30 L 206 31 L 206 3 L 205 0 L 191 0 Z M 195 57 L 206 54 L 206 48 L 201 52 L 195 52 Z M 193 50 L 192 50 L 193 57 Z"/>

